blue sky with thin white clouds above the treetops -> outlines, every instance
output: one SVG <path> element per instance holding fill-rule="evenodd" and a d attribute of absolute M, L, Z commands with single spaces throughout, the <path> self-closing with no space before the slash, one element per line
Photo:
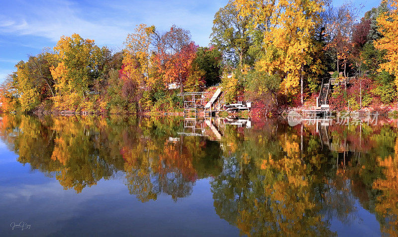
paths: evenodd
<path fill-rule="evenodd" d="M 189 29 L 200 46 L 209 43 L 214 13 L 228 0 L 0 0 L 0 81 L 14 65 L 53 48 L 62 35 L 80 34 L 114 51 L 135 25 L 172 24 Z M 333 4 L 341 4 L 334 0 Z M 360 2 L 355 2 L 359 4 Z M 363 0 L 363 12 L 380 0 Z"/>

